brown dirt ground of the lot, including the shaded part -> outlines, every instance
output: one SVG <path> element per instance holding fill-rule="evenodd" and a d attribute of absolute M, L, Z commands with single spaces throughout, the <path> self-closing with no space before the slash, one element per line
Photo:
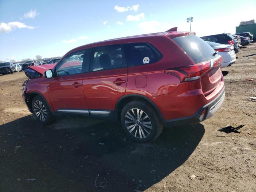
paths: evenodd
<path fill-rule="evenodd" d="M 150 144 L 126 139 L 115 122 L 39 124 L 21 97 L 24 72 L 0 76 L 0 191 L 255 192 L 256 43 L 237 56 L 223 68 L 222 108 L 201 124 L 165 128 Z M 228 124 L 245 126 L 218 131 Z"/>

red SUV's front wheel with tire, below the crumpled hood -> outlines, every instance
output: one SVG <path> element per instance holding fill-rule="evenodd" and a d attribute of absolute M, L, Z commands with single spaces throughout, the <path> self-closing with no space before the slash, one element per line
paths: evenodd
<path fill-rule="evenodd" d="M 42 105 L 41 105 L 42 103 Z M 35 96 L 32 100 L 32 110 L 39 122 L 49 124 L 55 120 L 48 104 L 41 96 Z M 39 113 L 38 113 L 39 112 Z"/>

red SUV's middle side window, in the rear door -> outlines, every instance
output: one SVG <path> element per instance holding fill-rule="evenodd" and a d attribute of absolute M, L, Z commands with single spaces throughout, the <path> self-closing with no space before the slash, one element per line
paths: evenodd
<path fill-rule="evenodd" d="M 90 71 L 124 67 L 122 45 L 108 45 L 92 49 Z"/>

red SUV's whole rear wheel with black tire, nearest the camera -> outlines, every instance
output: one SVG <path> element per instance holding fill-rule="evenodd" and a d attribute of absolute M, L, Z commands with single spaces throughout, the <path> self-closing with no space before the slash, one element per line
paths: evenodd
<path fill-rule="evenodd" d="M 136 119 L 134 120 L 134 118 Z M 140 119 L 137 120 L 137 118 Z M 121 113 L 121 124 L 127 136 L 140 143 L 154 141 L 163 130 L 163 123 L 157 112 L 143 100 L 135 100 L 124 106 Z"/>

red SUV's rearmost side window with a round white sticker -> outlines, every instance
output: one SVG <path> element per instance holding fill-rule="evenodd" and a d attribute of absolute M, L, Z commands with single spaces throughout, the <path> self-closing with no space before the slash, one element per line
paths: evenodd
<path fill-rule="evenodd" d="M 162 58 L 162 54 L 149 43 L 124 44 L 124 50 L 128 67 L 154 63 Z"/>

